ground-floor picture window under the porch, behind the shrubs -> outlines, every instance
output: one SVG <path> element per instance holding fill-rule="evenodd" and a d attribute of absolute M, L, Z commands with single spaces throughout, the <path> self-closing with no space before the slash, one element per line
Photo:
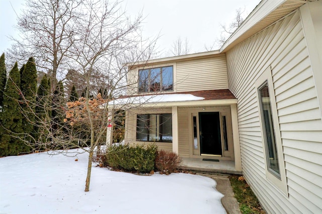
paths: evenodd
<path fill-rule="evenodd" d="M 172 114 L 137 115 L 136 140 L 172 142 Z"/>

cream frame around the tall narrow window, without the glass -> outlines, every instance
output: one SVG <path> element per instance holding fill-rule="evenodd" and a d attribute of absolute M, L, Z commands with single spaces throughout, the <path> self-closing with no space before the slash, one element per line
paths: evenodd
<path fill-rule="evenodd" d="M 276 176 L 272 173 L 268 168 L 268 161 L 267 161 L 267 152 L 268 145 L 265 139 L 264 134 L 264 121 L 262 119 L 262 108 L 261 108 L 261 100 L 259 95 L 259 89 L 267 83 L 268 90 L 270 94 L 270 102 L 272 108 L 272 118 L 273 118 L 273 127 L 274 127 L 274 134 L 275 134 L 275 143 L 277 149 L 277 157 L 278 157 L 278 165 L 280 176 Z M 277 113 L 277 106 L 276 106 L 276 99 L 275 99 L 275 91 L 274 91 L 274 84 L 272 78 L 272 71 L 271 67 L 269 66 L 263 74 L 255 81 L 255 89 L 257 94 L 257 103 L 258 103 L 258 111 L 259 111 L 259 120 L 260 120 L 260 127 L 261 127 L 261 135 L 262 135 L 262 142 L 263 142 L 263 153 L 264 153 L 264 161 L 265 161 L 265 171 L 266 171 L 266 178 L 271 181 L 276 187 L 278 187 L 284 194 L 288 195 L 287 189 L 287 181 L 286 181 L 286 171 L 285 171 L 285 162 L 284 162 L 284 154 L 283 154 L 283 146 L 282 146 L 282 139 L 281 139 L 281 132 L 280 132 L 280 125 Z"/>

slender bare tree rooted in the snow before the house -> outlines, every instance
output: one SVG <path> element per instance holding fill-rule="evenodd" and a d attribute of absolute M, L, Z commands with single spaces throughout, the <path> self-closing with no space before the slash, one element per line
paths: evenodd
<path fill-rule="evenodd" d="M 117 109 L 109 103 L 113 102 L 114 97 L 124 94 L 129 87 L 137 87 L 137 84 L 127 83 L 128 70 L 125 63 L 148 60 L 153 55 L 155 40 L 144 41 L 138 33 L 142 15 L 139 14 L 134 21 L 130 21 L 118 3 L 86 1 L 82 10 L 82 19 L 75 20 L 76 33 L 69 35 L 73 42 L 68 48 L 68 55 L 65 55 L 68 57 L 66 62 L 84 77 L 85 87 L 91 88 L 96 71 L 108 77 L 109 98 L 103 99 L 101 94 L 90 98 L 90 90 L 87 90 L 84 98 L 67 105 L 62 102 L 53 105 L 53 95 L 41 97 L 38 99 L 41 102 L 29 102 L 30 109 L 24 115 L 27 120 L 28 115 L 36 117 L 36 122 L 29 122 L 39 131 L 35 136 L 20 133 L 19 137 L 33 137 L 33 141 L 25 142 L 36 151 L 81 148 L 88 152 L 85 191 L 89 191 L 95 149 L 105 144 L 107 127 L 113 124 L 113 118 L 118 118 L 117 114 L 124 114 L 118 110 L 122 106 L 131 105 L 131 100 L 117 106 Z M 33 111 L 35 105 L 36 109 L 44 111 L 37 114 Z M 55 118 L 52 111 L 55 111 Z"/>

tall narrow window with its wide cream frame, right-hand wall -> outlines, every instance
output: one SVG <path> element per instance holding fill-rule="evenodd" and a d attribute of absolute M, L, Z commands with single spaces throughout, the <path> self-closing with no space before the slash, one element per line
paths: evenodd
<path fill-rule="evenodd" d="M 265 174 L 276 187 L 288 195 L 283 146 L 275 99 L 273 75 L 269 66 L 255 81 L 265 157 Z"/>

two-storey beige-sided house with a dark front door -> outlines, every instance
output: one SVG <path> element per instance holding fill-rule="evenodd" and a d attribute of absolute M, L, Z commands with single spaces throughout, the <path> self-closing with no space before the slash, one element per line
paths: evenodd
<path fill-rule="evenodd" d="M 218 51 L 129 63 L 125 140 L 232 163 L 269 213 L 322 213 L 321 12 L 263 0 Z"/>

